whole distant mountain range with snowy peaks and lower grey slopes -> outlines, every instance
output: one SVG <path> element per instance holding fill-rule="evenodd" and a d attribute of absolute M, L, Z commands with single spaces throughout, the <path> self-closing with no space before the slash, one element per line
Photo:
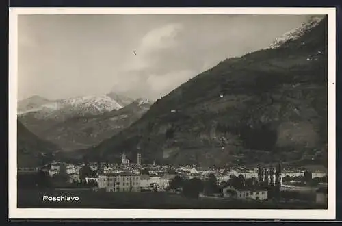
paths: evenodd
<path fill-rule="evenodd" d="M 153 104 L 110 92 L 107 95 L 49 100 L 34 96 L 18 101 L 18 120 L 34 134 L 71 151 L 114 136 Z"/>

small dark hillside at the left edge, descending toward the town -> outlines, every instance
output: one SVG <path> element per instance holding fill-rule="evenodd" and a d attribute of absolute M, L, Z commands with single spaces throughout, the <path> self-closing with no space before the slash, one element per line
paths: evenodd
<path fill-rule="evenodd" d="M 52 158 L 60 148 L 38 138 L 31 133 L 20 121 L 17 121 L 17 153 L 18 167 L 40 166 L 43 156 L 45 159 Z"/>

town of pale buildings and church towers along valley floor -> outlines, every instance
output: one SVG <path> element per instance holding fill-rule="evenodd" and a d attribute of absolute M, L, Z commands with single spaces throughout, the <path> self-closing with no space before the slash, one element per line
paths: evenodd
<path fill-rule="evenodd" d="M 140 153 L 136 159 L 136 163 L 129 162 L 122 153 L 120 164 L 51 162 L 40 168 L 19 168 L 18 186 L 34 182 L 32 186 L 39 188 L 92 192 L 168 192 L 197 199 L 311 201 L 320 205 L 328 202 L 328 176 L 321 169 L 282 168 L 281 164 L 256 168 L 160 166 L 155 161 L 142 164 Z M 27 175 L 34 177 L 29 179 Z M 305 194 L 311 194 L 311 200 Z"/>

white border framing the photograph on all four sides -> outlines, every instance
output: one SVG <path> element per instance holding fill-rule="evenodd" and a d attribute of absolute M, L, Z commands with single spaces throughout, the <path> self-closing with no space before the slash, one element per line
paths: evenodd
<path fill-rule="evenodd" d="M 16 208 L 17 16 L 19 14 L 328 14 L 328 210 L 108 210 Z M 9 212 L 16 218 L 335 218 L 335 8 L 10 8 L 9 39 Z"/>

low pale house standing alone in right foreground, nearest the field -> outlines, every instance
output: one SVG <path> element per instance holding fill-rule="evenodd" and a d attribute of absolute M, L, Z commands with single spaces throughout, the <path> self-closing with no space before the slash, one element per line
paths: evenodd
<path fill-rule="evenodd" d="M 254 199 L 254 200 L 267 200 L 268 192 L 267 189 L 252 187 L 252 188 L 234 188 L 228 186 L 223 188 L 223 197 L 234 198 L 234 199 Z"/>

